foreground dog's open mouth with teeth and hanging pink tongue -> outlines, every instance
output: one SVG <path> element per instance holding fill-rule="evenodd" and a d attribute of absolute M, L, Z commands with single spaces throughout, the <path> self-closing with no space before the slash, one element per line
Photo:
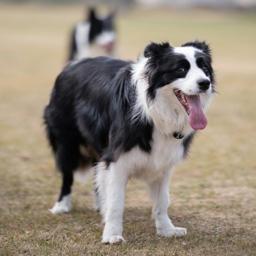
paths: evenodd
<path fill-rule="evenodd" d="M 200 101 L 200 95 L 187 95 L 179 89 L 174 89 L 177 99 L 188 114 L 188 121 L 194 130 L 203 130 L 207 125 L 207 119 Z"/>

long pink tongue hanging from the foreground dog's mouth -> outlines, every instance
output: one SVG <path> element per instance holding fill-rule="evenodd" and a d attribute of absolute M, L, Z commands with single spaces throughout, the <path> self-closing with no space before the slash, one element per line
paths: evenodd
<path fill-rule="evenodd" d="M 201 102 L 198 95 L 188 96 L 186 95 L 186 100 L 189 106 L 189 117 L 188 121 L 190 126 L 194 130 L 203 130 L 207 125 L 207 119 L 204 115 Z"/>

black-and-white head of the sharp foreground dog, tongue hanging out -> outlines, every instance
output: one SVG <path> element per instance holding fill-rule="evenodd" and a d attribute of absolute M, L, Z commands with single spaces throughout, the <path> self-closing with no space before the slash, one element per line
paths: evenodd
<path fill-rule="evenodd" d="M 146 46 L 144 56 L 147 58 L 148 104 L 155 100 L 160 88 L 167 86 L 165 92 L 170 95 L 170 100 L 187 112 L 190 126 L 194 130 L 204 129 L 207 119 L 203 108 L 215 92 L 209 45 L 197 40 L 181 47 L 151 43 Z"/>

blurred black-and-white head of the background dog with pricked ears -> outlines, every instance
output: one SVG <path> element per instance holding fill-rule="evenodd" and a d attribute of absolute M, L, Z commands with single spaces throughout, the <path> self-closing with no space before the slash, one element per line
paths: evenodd
<path fill-rule="evenodd" d="M 94 10 L 90 10 L 89 22 L 91 24 L 89 41 L 103 47 L 107 51 L 113 49 L 116 33 L 114 30 L 114 13 L 104 19 L 96 17 Z"/>

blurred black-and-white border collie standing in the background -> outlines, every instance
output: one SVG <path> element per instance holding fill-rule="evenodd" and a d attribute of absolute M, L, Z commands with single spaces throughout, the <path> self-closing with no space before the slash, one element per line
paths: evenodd
<path fill-rule="evenodd" d="M 89 56 L 112 56 L 116 38 L 113 17 L 114 13 L 104 19 L 98 19 L 91 9 L 89 19 L 79 22 L 72 33 L 69 60 Z"/>

